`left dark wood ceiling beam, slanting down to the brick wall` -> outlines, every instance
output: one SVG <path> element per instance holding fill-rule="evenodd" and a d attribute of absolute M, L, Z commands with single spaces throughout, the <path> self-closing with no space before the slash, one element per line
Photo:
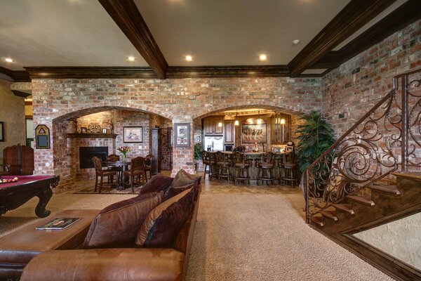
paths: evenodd
<path fill-rule="evenodd" d="M 168 63 L 133 0 L 98 0 L 160 79 Z"/>

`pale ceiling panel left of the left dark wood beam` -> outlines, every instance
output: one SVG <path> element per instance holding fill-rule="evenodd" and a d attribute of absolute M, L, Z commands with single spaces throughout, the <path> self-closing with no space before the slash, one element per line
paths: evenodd
<path fill-rule="evenodd" d="M 11 70 L 147 66 L 98 0 L 1 0 L 0 38 L 0 65 Z"/>

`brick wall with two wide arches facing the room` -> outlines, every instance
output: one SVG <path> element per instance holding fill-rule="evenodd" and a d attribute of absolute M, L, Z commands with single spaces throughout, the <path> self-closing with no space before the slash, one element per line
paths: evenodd
<path fill-rule="evenodd" d="M 194 119 L 233 107 L 258 106 L 296 115 L 321 108 L 321 79 L 34 79 L 32 95 L 34 125 L 53 128 L 51 150 L 35 151 L 36 174 L 66 174 L 72 181 L 71 164 L 55 149 L 57 145 L 62 151 L 67 143 L 62 137 L 65 128 L 59 125 L 63 120 L 107 110 L 142 110 L 194 128 Z M 145 132 L 144 137 L 149 136 Z M 173 149 L 173 174 L 181 168 L 193 172 L 192 148 Z"/>

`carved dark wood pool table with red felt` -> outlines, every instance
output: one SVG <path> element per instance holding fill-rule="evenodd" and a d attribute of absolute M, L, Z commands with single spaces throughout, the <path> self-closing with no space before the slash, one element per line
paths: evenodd
<path fill-rule="evenodd" d="M 35 214 L 45 218 L 50 214 L 46 205 L 53 196 L 51 187 L 58 185 L 59 176 L 1 176 L 1 179 L 18 177 L 13 183 L 0 183 L 0 216 L 6 211 L 16 209 L 28 202 L 32 197 L 38 197 Z"/>

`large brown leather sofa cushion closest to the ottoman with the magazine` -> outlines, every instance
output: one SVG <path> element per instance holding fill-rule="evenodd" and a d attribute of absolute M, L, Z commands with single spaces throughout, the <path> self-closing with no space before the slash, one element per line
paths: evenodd
<path fill-rule="evenodd" d="M 83 247 L 133 247 L 140 226 L 162 198 L 163 192 L 153 192 L 105 207 L 95 216 Z"/>

